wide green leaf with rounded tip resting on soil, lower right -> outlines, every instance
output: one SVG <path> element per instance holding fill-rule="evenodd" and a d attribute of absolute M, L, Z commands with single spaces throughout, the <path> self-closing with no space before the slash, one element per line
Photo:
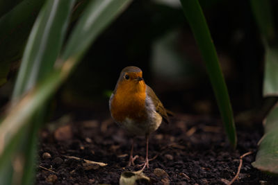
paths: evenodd
<path fill-rule="evenodd" d="M 256 161 L 252 166 L 267 173 L 278 174 L 278 107 L 272 109 L 265 121 L 265 134 L 260 141 Z"/>

